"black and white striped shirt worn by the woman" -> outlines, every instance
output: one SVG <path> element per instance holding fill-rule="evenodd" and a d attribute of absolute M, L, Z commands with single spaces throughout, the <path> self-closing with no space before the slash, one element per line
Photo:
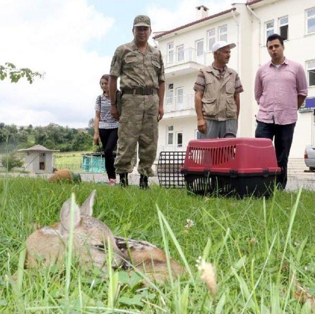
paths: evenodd
<path fill-rule="evenodd" d="M 119 121 L 110 114 L 110 99 L 104 94 L 96 97 L 95 110 L 100 112 L 98 128 L 115 129 L 119 127 Z"/>

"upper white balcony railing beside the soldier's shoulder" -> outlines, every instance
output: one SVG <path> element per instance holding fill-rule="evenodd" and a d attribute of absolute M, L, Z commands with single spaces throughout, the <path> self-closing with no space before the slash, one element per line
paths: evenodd
<path fill-rule="evenodd" d="M 163 60 L 165 68 L 186 62 L 205 64 L 205 52 L 197 51 L 197 49 L 194 48 L 187 48 L 169 53 L 168 55 L 163 56 Z"/>

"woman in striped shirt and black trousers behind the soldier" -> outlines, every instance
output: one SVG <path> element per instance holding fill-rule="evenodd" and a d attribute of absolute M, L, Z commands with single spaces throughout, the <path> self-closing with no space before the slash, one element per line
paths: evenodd
<path fill-rule="evenodd" d="M 104 74 L 100 78 L 99 85 L 103 93 L 96 97 L 94 143 L 102 142 L 105 154 L 105 168 L 108 175 L 108 185 L 116 184 L 113 150 L 118 140 L 119 121 L 110 114 L 110 99 L 108 90 L 109 75 Z"/>

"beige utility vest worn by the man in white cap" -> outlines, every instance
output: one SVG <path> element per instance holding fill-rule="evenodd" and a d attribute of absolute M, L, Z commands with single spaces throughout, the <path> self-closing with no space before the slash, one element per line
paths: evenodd
<path fill-rule="evenodd" d="M 201 69 L 205 77 L 205 91 L 202 97 L 203 116 L 211 120 L 237 119 L 234 100 L 236 71 L 226 67 L 223 80 L 220 81 L 212 65 Z"/>

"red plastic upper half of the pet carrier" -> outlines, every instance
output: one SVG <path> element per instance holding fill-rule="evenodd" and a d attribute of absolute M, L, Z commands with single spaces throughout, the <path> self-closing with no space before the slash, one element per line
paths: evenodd
<path fill-rule="evenodd" d="M 189 141 L 184 172 L 280 172 L 269 139 L 227 138 Z"/>

